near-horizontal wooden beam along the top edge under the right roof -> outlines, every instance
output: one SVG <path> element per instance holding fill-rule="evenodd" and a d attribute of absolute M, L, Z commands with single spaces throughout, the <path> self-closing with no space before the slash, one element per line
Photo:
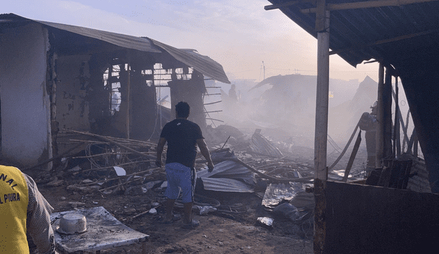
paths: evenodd
<path fill-rule="evenodd" d="M 379 8 L 386 6 L 401 6 L 412 3 L 427 3 L 439 0 L 375 0 L 375 1 L 362 1 L 353 3 L 328 3 L 327 10 L 353 10 L 353 9 L 365 9 L 365 8 Z M 317 8 L 309 8 L 300 10 L 303 14 L 316 13 Z"/>

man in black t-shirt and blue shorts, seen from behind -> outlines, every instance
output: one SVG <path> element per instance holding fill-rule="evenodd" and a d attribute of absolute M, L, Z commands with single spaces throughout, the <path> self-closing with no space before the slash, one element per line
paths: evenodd
<path fill-rule="evenodd" d="M 200 148 L 201 154 L 207 160 L 209 172 L 213 170 L 213 162 L 200 127 L 196 123 L 187 120 L 189 112 L 190 107 L 188 103 L 180 101 L 176 105 L 176 119 L 163 127 L 160 140 L 158 140 L 156 165 L 162 166 L 163 148 L 167 142 L 165 166 L 167 177 L 165 196 L 167 196 L 167 203 L 165 223 L 172 222 L 172 208 L 180 194 L 181 188 L 185 214 L 182 227 L 191 229 L 200 224 L 198 220 L 191 218 L 196 179 L 194 166 L 197 145 Z"/>

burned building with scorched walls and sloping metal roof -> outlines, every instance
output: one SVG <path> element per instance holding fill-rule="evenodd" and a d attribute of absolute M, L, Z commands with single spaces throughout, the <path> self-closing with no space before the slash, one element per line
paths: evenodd
<path fill-rule="evenodd" d="M 195 50 L 16 14 L 0 21 L 4 160 L 32 165 L 61 154 L 71 148 L 63 129 L 148 140 L 160 128 L 157 79 L 168 81 L 172 105 L 189 102 L 190 119 L 203 127 L 204 79 L 230 83 Z"/>

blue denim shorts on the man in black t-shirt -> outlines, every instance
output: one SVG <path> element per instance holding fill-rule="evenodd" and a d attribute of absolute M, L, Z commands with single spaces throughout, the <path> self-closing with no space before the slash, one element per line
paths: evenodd
<path fill-rule="evenodd" d="M 189 168 L 174 162 L 166 164 L 165 170 L 167 178 L 165 196 L 167 196 L 168 199 L 178 199 L 181 189 L 182 202 L 193 202 L 193 192 L 195 191 L 196 181 L 195 168 Z"/>

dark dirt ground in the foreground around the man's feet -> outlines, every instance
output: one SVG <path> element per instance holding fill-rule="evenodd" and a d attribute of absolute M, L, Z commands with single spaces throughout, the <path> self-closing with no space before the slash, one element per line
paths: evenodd
<path fill-rule="evenodd" d="M 244 207 L 246 212 L 215 212 L 205 216 L 194 212 L 200 226 L 182 229 L 181 220 L 170 225 L 162 223 L 165 216 L 162 188 L 148 190 L 145 194 L 103 195 L 97 191 L 85 194 L 67 190 L 73 179 L 65 178 L 58 187 L 48 187 L 43 183 L 47 181 L 43 180 L 44 174 L 35 175 L 34 179 L 40 192 L 54 207 L 54 212 L 102 206 L 121 223 L 150 236 L 147 253 L 313 253 L 312 224 L 296 225 L 285 218 L 278 218 L 271 228 L 260 225 L 257 218 L 267 216 L 269 212 L 263 209 L 262 199 L 256 194 L 204 193 L 224 205 Z M 132 218 L 152 207 L 156 207 L 157 214 L 146 213 Z M 181 218 L 182 209 L 175 207 L 174 213 Z M 31 253 L 37 252 L 32 249 Z M 141 244 L 101 253 L 141 253 Z"/>

